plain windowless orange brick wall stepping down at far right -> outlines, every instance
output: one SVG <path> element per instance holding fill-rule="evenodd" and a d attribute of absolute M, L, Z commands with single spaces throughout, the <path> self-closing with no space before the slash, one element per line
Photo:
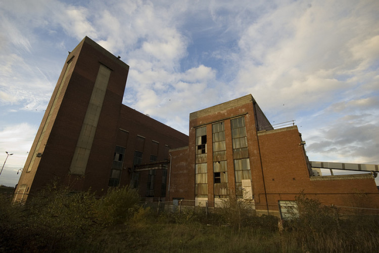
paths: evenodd
<path fill-rule="evenodd" d="M 301 137 L 296 126 L 259 133 L 262 165 L 270 210 L 278 210 L 278 200 L 294 200 L 301 193 L 317 198 L 322 204 L 352 206 L 364 192 L 369 201 L 365 207 L 377 208 L 379 194 L 371 176 L 336 177 L 336 180 L 311 181 Z M 323 177 L 315 177 L 322 179 Z M 337 180 L 338 179 L 338 180 Z M 256 180 L 253 179 L 253 183 Z M 264 190 L 254 191 L 257 198 L 264 196 Z M 259 207 L 259 206 L 258 206 Z M 261 208 L 264 208 L 262 206 Z"/>

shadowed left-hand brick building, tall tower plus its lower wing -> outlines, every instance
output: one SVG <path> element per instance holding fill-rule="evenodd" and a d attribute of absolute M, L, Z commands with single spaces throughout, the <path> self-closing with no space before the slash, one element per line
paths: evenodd
<path fill-rule="evenodd" d="M 122 104 L 129 66 L 85 37 L 69 53 L 21 174 L 16 200 L 55 180 L 101 194 L 131 185 L 166 195 L 170 148 L 188 136 Z M 161 162 L 159 170 L 136 164 Z M 141 185 L 144 184 L 145 187 Z"/>

